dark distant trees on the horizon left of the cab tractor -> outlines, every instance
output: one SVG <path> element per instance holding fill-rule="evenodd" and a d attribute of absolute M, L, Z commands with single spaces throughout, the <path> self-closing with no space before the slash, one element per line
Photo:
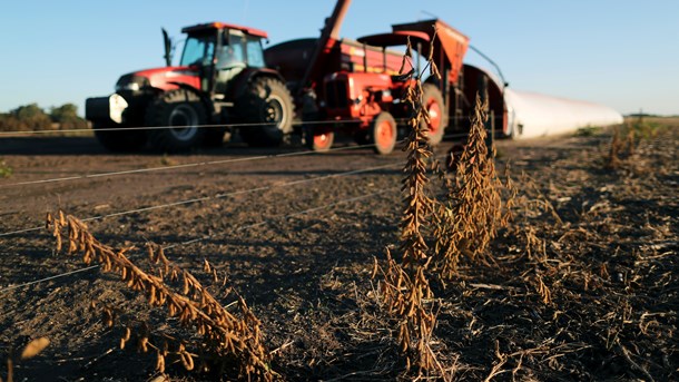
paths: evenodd
<path fill-rule="evenodd" d="M 78 107 L 73 104 L 51 107 L 49 111 L 38 104 L 30 104 L 9 112 L 0 112 L 0 131 L 70 130 L 87 127 L 87 121 L 78 116 Z"/>

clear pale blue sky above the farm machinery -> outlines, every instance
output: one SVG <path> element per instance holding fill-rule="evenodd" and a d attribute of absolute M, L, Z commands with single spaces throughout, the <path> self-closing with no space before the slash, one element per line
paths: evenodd
<path fill-rule="evenodd" d="M 227 21 L 270 43 L 315 37 L 334 0 L 4 2 L 0 112 L 106 96 L 125 72 L 164 65 L 160 28 Z M 679 115 L 677 0 L 353 0 L 342 36 L 392 23 L 446 21 L 498 62 L 515 89 L 582 99 L 620 112 Z M 177 59 L 178 57 L 176 57 Z M 466 61 L 485 65 L 475 53 Z"/>

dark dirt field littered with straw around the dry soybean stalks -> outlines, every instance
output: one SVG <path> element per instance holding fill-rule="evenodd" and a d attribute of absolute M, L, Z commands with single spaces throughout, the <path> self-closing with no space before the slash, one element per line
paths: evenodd
<path fill-rule="evenodd" d="M 436 291 L 435 350 L 446 375 L 679 379 L 678 137 L 675 126 L 641 140 L 614 170 L 604 166 L 608 133 L 499 143 L 500 167 L 511 160 L 520 188 L 514 223 L 493 245 L 495 264 L 465 263 Z M 92 298 L 160 330 L 177 324 L 149 313 L 115 276 L 63 275 L 86 266 L 55 253 L 42 228 L 58 208 L 98 217 L 88 226 L 112 246 L 152 241 L 176 245 L 167 255 L 184 267 L 215 264 L 262 321 L 284 380 L 414 378 L 402 374 L 395 325 L 371 280 L 373 257 L 398 244 L 404 154 L 285 156 L 299 149 L 227 145 L 168 157 L 110 155 L 88 137 L 1 138 L 0 159 L 13 174 L 0 177 L 0 360 L 30 339 L 51 341 L 14 365 L 14 380 L 156 376 L 155 355 L 119 350 L 122 329 L 106 327 Z M 154 170 L 98 176 L 138 169 Z M 42 182 L 57 178 L 71 179 Z M 62 276 L 41 281 L 55 275 Z M 178 364 L 167 373 L 215 380 Z"/>

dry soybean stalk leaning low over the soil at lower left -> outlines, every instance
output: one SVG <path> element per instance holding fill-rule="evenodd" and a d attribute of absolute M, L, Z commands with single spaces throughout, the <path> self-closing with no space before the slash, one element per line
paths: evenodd
<path fill-rule="evenodd" d="M 265 381 L 274 379 L 275 373 L 268 366 L 268 354 L 262 344 L 260 323 L 240 296 L 238 306 L 242 317 L 238 317 L 227 312 L 194 275 L 173 265 L 159 246 L 148 245 L 147 248 L 149 258 L 157 266 L 157 274 L 154 275 L 144 272 L 126 256 L 134 247 L 116 251 L 101 244 L 82 222 L 70 215 L 65 216 L 59 212 L 58 216 L 52 217 L 48 214 L 47 227 L 51 228 L 57 241 L 57 251 L 61 251 L 66 244 L 68 253 L 80 254 L 86 264 L 101 264 L 102 272 L 120 275 L 129 288 L 146 294 L 151 307 L 167 308 L 168 319 L 178 317 L 184 327 L 195 330 L 201 337 L 195 344 L 201 355 L 203 366 L 214 365 L 219 371 L 225 371 L 227 365 L 235 364 L 238 378 Z M 206 267 L 211 271 L 209 264 Z M 169 286 L 173 282 L 181 285 L 180 293 Z M 105 323 L 114 325 L 116 312 L 107 306 L 101 311 Z M 177 340 L 170 345 L 170 341 L 166 341 L 163 345 L 155 345 L 149 341 L 148 325 L 141 325 L 136 332 L 140 351 L 156 351 L 156 368 L 159 371 L 165 370 L 165 357 L 168 355 L 177 356 L 187 370 L 195 369 L 194 359 L 197 354 L 190 353 L 185 342 Z M 131 330 L 127 327 L 121 347 L 125 347 L 130 337 Z M 166 336 L 166 340 L 170 339 Z"/>

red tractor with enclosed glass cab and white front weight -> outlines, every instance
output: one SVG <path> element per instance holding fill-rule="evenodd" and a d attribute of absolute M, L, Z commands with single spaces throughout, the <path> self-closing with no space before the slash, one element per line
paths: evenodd
<path fill-rule="evenodd" d="M 220 125 L 237 123 L 244 124 L 240 135 L 249 145 L 281 144 L 292 130 L 294 104 L 283 77 L 266 67 L 262 40 L 267 33 L 223 22 L 183 32 L 178 66 L 170 65 L 164 30 L 166 67 L 127 74 L 114 95 L 87 99 L 86 118 L 99 141 L 117 151 L 147 144 L 179 151 L 220 145 L 226 131 Z"/>

